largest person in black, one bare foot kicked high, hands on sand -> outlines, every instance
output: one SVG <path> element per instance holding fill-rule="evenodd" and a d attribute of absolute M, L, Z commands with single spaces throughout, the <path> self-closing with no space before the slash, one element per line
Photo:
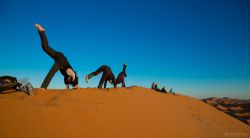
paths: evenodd
<path fill-rule="evenodd" d="M 58 70 L 60 70 L 64 76 L 64 83 L 67 89 L 69 89 L 69 85 L 73 86 L 74 88 L 80 88 L 78 85 L 78 76 L 69 64 L 67 58 L 63 55 L 63 53 L 55 51 L 49 46 L 45 29 L 40 24 L 35 24 L 35 27 L 38 29 L 44 52 L 46 52 L 55 61 L 54 65 L 45 77 L 41 88 L 47 89 L 51 79 Z"/>

